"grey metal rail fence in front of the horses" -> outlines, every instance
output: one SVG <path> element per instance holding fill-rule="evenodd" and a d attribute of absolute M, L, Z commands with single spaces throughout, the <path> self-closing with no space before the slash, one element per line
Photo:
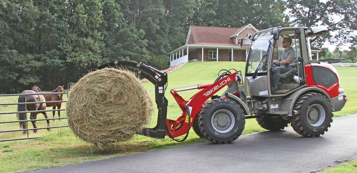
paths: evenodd
<path fill-rule="evenodd" d="M 30 111 L 27 111 L 27 104 L 67 102 L 67 100 L 46 101 L 46 102 L 26 102 L 26 96 L 27 96 L 27 95 L 45 95 L 45 94 L 67 94 L 67 98 L 68 98 L 68 92 L 67 92 L 67 90 L 65 90 L 65 92 L 63 92 L 63 93 L 0 94 L 0 97 L 24 95 L 24 96 L 25 96 L 25 102 L 24 102 L 24 103 L 0 103 L 0 106 L 3 106 L 3 105 L 20 105 L 20 104 L 25 104 L 25 110 L 26 110 L 26 111 L 17 111 L 17 112 L 0 112 L 0 115 L 3 115 L 3 114 L 26 113 L 26 116 L 27 116 L 27 113 L 33 113 L 33 112 L 41 113 L 41 112 L 65 111 L 65 110 L 66 110 L 66 109 L 49 109 L 49 110 L 30 110 Z M 1 134 L 1 133 L 8 133 L 8 132 L 21 132 L 21 131 L 26 131 L 26 132 L 27 132 L 27 138 L 1 139 L 0 142 L 11 141 L 11 140 L 23 140 L 23 139 L 35 139 L 35 138 L 40 138 L 40 137 L 29 137 L 28 130 L 40 130 L 40 129 L 53 129 L 53 128 L 69 127 L 68 125 L 61 125 L 61 126 L 52 126 L 52 127 L 28 128 L 28 127 L 29 127 L 29 126 L 28 126 L 28 122 L 32 122 L 32 121 L 44 121 L 44 120 L 56 120 L 56 119 L 67 119 L 67 117 L 62 117 L 62 118 L 45 118 L 45 119 L 29 119 L 29 120 L 14 120 L 14 121 L 4 121 L 4 122 L 0 122 L 0 124 L 26 122 L 26 127 L 27 127 L 27 129 L 1 130 L 1 131 L 0 131 L 0 134 Z"/>

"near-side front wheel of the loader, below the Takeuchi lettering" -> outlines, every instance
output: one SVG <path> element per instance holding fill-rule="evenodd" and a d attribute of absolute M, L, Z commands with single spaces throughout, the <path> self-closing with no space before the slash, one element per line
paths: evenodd
<path fill-rule="evenodd" d="M 216 144 L 228 144 L 243 132 L 245 115 L 233 100 L 220 98 L 205 104 L 198 116 L 204 137 Z"/>

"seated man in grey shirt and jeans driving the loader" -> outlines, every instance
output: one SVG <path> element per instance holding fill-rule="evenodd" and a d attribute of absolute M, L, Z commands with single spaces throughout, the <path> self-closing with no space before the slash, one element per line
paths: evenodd
<path fill-rule="evenodd" d="M 291 47 L 292 39 L 290 37 L 286 37 L 283 39 L 282 46 L 285 48 L 285 51 L 280 55 L 278 60 L 273 60 L 272 63 L 278 66 L 285 65 L 286 63 L 290 64 L 296 58 L 296 51 Z M 291 66 L 277 68 L 277 72 L 273 74 L 272 79 L 272 92 L 276 92 L 278 89 L 278 84 L 280 80 L 280 74 L 290 71 L 292 69 Z"/>

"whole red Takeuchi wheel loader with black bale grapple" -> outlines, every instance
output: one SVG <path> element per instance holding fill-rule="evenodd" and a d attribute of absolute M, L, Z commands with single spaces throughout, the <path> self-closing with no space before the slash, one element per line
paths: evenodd
<path fill-rule="evenodd" d="M 267 130 L 281 130 L 291 123 L 298 134 L 318 137 L 331 127 L 332 112 L 340 111 L 347 102 L 337 70 L 312 60 L 309 40 L 324 32 L 326 27 L 290 27 L 248 34 L 251 45 L 244 78 L 241 71 L 221 70 L 212 84 L 171 89 L 182 110 L 176 120 L 166 117 L 167 73 L 141 61 L 115 61 L 97 69 L 128 69 L 155 85 L 157 125 L 140 132 L 148 137 L 174 139 L 185 135 L 182 140 L 174 139 L 182 142 L 192 127 L 198 136 L 213 143 L 232 143 L 242 134 L 247 118 L 256 118 Z M 243 39 L 240 46 L 242 43 Z M 223 88 L 222 95 L 215 95 Z M 178 94 L 192 89 L 200 91 L 188 100 Z"/>

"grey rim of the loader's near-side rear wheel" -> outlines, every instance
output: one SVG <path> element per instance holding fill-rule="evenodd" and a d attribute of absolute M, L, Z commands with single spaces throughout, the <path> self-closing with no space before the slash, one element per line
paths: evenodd
<path fill-rule="evenodd" d="M 320 126 L 325 121 L 325 109 L 320 104 L 313 104 L 306 113 L 307 122 L 313 127 Z"/>

